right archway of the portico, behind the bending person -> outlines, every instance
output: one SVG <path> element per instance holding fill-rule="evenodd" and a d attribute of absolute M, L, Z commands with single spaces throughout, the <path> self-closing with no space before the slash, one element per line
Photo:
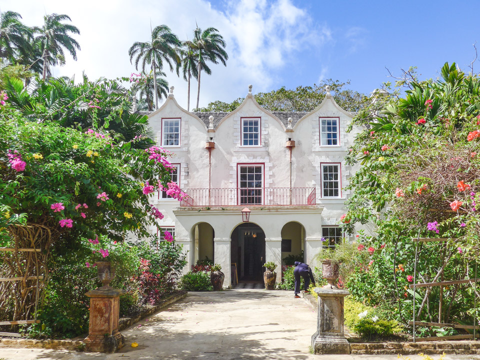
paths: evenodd
<path fill-rule="evenodd" d="M 299 222 L 290 221 L 281 228 L 281 264 L 293 265 L 304 261 L 305 228 Z"/>

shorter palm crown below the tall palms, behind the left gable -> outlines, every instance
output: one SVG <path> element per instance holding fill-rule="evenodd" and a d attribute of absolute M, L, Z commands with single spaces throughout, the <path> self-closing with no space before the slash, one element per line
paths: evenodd
<path fill-rule="evenodd" d="M 146 110 L 153 110 L 153 98 L 162 98 L 168 94 L 168 81 L 162 77 L 166 76 L 163 71 L 157 70 L 156 76 L 153 76 L 153 71 L 150 71 L 149 74 L 142 73 L 141 78 L 134 82 L 131 86 L 131 91 L 133 93 L 139 92 L 138 99 L 144 100 L 146 105 Z M 154 86 L 154 81 L 156 81 L 156 86 Z M 156 91 L 156 96 L 153 94 Z M 143 103 L 143 101 L 141 101 Z"/>

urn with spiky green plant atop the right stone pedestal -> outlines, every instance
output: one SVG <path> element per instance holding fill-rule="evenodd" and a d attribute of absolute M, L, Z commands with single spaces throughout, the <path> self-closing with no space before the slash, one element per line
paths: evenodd
<path fill-rule="evenodd" d="M 334 247 L 324 245 L 315 258 L 321 262 L 322 277 L 328 282 L 323 287 L 337 288 L 337 279 L 341 268 L 346 268 L 353 261 L 356 246 L 343 239 Z"/>

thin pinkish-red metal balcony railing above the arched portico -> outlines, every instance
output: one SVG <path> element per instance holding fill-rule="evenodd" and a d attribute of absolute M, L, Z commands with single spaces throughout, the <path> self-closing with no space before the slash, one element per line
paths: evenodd
<path fill-rule="evenodd" d="M 316 205 L 315 187 L 189 188 L 180 206 Z"/>

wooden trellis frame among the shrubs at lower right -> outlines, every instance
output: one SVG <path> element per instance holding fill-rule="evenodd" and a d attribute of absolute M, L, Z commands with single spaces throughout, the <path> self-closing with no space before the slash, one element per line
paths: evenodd
<path fill-rule="evenodd" d="M 433 209 L 432 209 L 433 210 Z M 436 276 L 433 278 L 432 282 L 424 282 L 424 283 L 416 283 L 416 264 L 418 262 L 418 244 L 420 242 L 440 242 L 440 244 L 446 246 L 447 241 L 450 238 L 444 238 L 444 237 L 416 237 L 413 238 L 413 241 L 416 242 L 415 246 L 415 262 L 414 262 L 414 268 L 413 268 L 413 284 L 409 285 L 410 288 L 413 289 L 413 320 L 408 321 L 410 325 L 413 325 L 413 342 L 415 341 L 432 341 L 432 340 L 452 340 L 452 339 L 467 339 L 467 338 L 473 338 L 475 339 L 478 337 L 478 334 L 476 333 L 476 330 L 480 328 L 476 324 L 476 315 L 473 315 L 473 324 L 472 325 L 462 325 L 462 324 L 457 324 L 457 323 L 445 323 L 442 322 L 442 305 L 443 305 L 443 286 L 448 286 L 448 285 L 453 285 L 453 284 L 461 284 L 461 283 L 470 283 L 472 286 L 474 286 L 474 291 L 473 291 L 473 307 L 476 308 L 476 282 L 480 281 L 480 278 L 476 277 L 476 264 L 475 264 L 475 276 L 473 279 L 461 279 L 461 280 L 443 280 L 443 269 L 445 268 L 448 259 L 445 259 L 443 256 L 442 259 L 442 266 L 440 270 L 437 272 Z M 445 250 L 446 252 L 446 250 Z M 440 281 L 436 281 L 440 277 Z M 416 315 L 415 315 L 415 298 L 416 298 L 416 292 L 415 288 L 417 287 L 427 287 L 425 297 L 422 301 L 422 304 L 420 305 L 420 311 L 418 312 L 418 315 L 421 312 L 421 309 L 423 308 L 423 304 L 425 302 L 425 299 L 428 297 L 429 291 L 432 286 L 440 286 L 440 291 L 439 291 L 439 305 L 438 305 L 438 322 L 429 322 L 429 321 L 416 321 Z M 428 336 L 428 337 L 415 337 L 415 325 L 420 325 L 420 326 L 439 326 L 439 327 L 453 327 L 453 328 L 461 328 L 461 329 L 468 329 L 468 330 L 473 330 L 473 334 L 465 334 L 465 335 L 451 335 L 451 336 Z"/>

